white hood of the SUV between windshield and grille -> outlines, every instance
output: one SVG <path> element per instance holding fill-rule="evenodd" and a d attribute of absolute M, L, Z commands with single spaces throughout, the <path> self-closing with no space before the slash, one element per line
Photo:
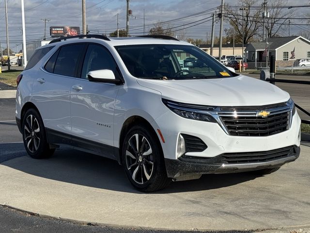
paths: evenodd
<path fill-rule="evenodd" d="M 161 92 L 162 98 L 212 106 L 259 106 L 289 100 L 279 87 L 247 76 L 222 79 L 148 80 L 137 79 L 144 87 Z"/>

